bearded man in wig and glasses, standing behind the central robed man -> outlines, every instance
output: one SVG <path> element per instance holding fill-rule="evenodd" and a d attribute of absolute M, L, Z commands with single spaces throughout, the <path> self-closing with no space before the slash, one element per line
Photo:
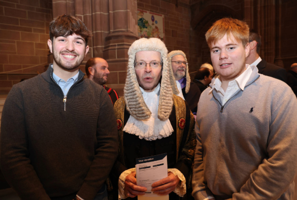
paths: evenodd
<path fill-rule="evenodd" d="M 167 59 L 173 93 L 182 97 L 196 115 L 201 91 L 194 82 L 191 82 L 186 54 L 180 50 L 171 51 Z"/>

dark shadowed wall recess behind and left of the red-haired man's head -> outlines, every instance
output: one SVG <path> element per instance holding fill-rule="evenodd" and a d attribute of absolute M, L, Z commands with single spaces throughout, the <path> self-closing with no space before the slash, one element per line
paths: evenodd
<path fill-rule="evenodd" d="M 212 24 L 223 17 L 244 18 L 244 1 L 196 0 L 191 5 L 190 55 L 197 70 L 205 63 L 211 63 L 205 34 Z"/>

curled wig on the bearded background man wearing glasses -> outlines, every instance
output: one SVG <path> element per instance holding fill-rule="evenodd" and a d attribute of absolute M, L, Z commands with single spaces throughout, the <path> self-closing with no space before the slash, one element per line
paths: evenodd
<path fill-rule="evenodd" d="M 187 61 L 186 54 L 181 50 L 171 51 L 167 56 L 168 68 L 169 68 L 169 71 L 170 71 L 169 72 L 170 84 L 171 84 L 173 93 L 175 95 L 178 95 L 179 91 L 177 89 L 176 82 L 175 82 L 175 77 L 174 77 L 173 70 L 172 70 L 172 57 L 175 56 L 175 55 L 182 55 L 182 56 L 184 56 L 186 62 L 188 62 L 188 61 Z M 190 82 L 191 82 L 188 64 L 186 64 L 186 79 L 187 79 L 186 93 L 188 93 L 189 89 L 190 89 Z"/>

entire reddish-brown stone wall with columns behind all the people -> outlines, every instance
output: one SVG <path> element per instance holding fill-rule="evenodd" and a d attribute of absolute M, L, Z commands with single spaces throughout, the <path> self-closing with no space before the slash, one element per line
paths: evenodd
<path fill-rule="evenodd" d="M 13 84 L 44 72 L 52 56 L 47 47 L 49 22 L 60 14 L 81 18 L 92 30 L 90 57 L 109 65 L 108 86 L 125 83 L 127 50 L 137 39 L 137 9 L 164 15 L 165 44 L 182 50 L 192 76 L 210 62 L 205 33 L 222 17 L 245 20 L 262 35 L 260 56 L 288 69 L 297 62 L 295 0 L 0 0 L 0 94 Z M 191 77 L 192 77 L 191 76 Z"/>

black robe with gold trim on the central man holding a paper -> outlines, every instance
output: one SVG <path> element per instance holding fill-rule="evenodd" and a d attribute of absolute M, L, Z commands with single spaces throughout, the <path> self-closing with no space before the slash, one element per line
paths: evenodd
<path fill-rule="evenodd" d="M 119 112 L 119 110 L 123 110 L 123 107 L 125 108 L 124 99 L 120 98 L 114 107 L 117 121 L 122 120 L 123 118 L 123 124 L 119 127 L 118 123 L 120 143 L 119 157 L 115 162 L 110 175 L 113 187 L 113 199 L 118 199 L 119 176 L 125 170 L 135 168 L 136 158 L 148 157 L 162 153 L 167 153 L 168 168 L 176 168 L 185 176 L 188 189 L 191 185 L 191 183 L 189 183 L 189 177 L 192 172 L 191 166 L 196 146 L 195 133 L 193 131 L 194 117 L 190 112 L 188 105 L 184 103 L 182 98 L 174 95 L 174 106 L 169 117 L 174 132 L 167 138 L 157 139 L 155 141 L 146 141 L 145 139 L 140 139 L 139 136 L 122 131 L 130 116 L 126 109 L 124 109 L 124 115 Z M 178 111 L 176 110 L 176 107 L 179 108 Z M 180 110 L 183 110 L 182 107 L 184 107 L 185 110 L 184 115 L 180 114 Z M 177 122 L 177 118 L 180 119 L 181 117 L 185 118 L 185 125 L 183 129 L 180 129 Z M 179 146 L 178 151 L 177 144 Z M 186 195 L 191 194 L 188 194 L 187 192 Z M 137 197 L 130 199 L 137 199 Z M 170 199 L 182 199 L 182 197 L 179 197 L 176 193 L 171 192 Z"/>

